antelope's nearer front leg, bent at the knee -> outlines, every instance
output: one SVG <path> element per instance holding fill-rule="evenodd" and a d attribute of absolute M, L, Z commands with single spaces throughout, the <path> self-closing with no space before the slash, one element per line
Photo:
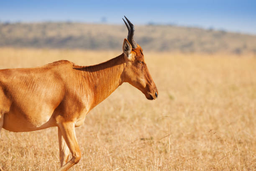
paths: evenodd
<path fill-rule="evenodd" d="M 69 147 L 69 150 L 72 154 L 72 158 L 68 161 L 64 166 L 61 166 L 58 171 L 67 171 L 69 168 L 77 164 L 81 158 L 81 152 L 79 149 L 79 145 L 77 143 L 77 137 L 75 134 L 74 123 L 60 123 L 58 125 L 59 130 L 61 131 L 61 135 Z"/>

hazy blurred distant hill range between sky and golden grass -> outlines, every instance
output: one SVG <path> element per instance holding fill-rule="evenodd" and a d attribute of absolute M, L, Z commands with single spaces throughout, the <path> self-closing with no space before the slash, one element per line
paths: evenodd
<path fill-rule="evenodd" d="M 256 54 L 256 36 L 181 26 L 136 26 L 145 50 Z M 87 23 L 0 23 L 0 46 L 120 50 L 125 25 Z"/>

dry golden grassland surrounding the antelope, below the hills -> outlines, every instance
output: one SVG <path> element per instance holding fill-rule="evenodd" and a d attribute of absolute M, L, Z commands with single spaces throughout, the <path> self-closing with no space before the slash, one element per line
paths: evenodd
<path fill-rule="evenodd" d="M 67 59 L 97 64 L 121 51 L 0 48 L 0 69 Z M 123 84 L 76 128 L 81 161 L 71 171 L 255 171 L 256 57 L 146 52 L 159 90 L 149 101 Z M 59 168 L 57 128 L 2 130 L 4 171 Z"/>

